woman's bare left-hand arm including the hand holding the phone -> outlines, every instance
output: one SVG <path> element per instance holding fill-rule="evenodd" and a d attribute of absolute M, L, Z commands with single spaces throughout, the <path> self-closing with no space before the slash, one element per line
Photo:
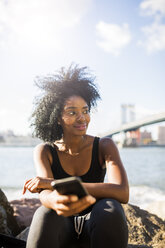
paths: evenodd
<path fill-rule="evenodd" d="M 39 194 L 40 201 L 45 207 L 55 210 L 58 215 L 70 216 L 83 211 L 95 202 L 95 198 L 90 195 L 79 200 L 76 195 L 60 195 L 52 189 L 51 182 L 54 180 L 51 170 L 52 157 L 48 147 L 44 144 L 35 148 L 34 162 L 37 171 L 36 178 L 42 179 L 41 185 L 44 186 L 44 179 L 47 180 L 46 189 Z"/>

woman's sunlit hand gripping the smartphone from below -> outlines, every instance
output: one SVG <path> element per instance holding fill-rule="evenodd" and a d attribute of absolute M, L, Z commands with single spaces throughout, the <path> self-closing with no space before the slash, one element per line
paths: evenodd
<path fill-rule="evenodd" d="M 78 199 L 76 195 L 60 195 L 56 190 L 50 194 L 50 201 L 52 202 L 51 208 L 54 209 L 58 215 L 65 217 L 80 213 L 96 201 L 91 195 Z"/>

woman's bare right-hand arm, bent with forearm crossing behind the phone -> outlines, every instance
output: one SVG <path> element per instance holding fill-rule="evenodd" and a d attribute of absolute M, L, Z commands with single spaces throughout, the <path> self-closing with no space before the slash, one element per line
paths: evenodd
<path fill-rule="evenodd" d="M 84 183 L 89 194 L 96 198 L 114 198 L 121 203 L 129 199 L 129 186 L 118 149 L 109 138 L 100 140 L 100 153 L 108 173 L 108 183 Z"/>

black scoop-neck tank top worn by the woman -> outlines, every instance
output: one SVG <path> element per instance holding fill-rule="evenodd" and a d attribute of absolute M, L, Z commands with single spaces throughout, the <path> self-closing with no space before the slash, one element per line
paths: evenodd
<path fill-rule="evenodd" d="M 52 154 L 53 162 L 51 165 L 54 179 L 61 179 L 70 177 L 61 166 L 56 148 L 49 146 Z M 102 168 L 99 163 L 99 138 L 95 137 L 92 148 L 92 159 L 89 170 L 82 176 L 79 176 L 83 182 L 86 183 L 98 183 L 103 182 L 105 177 L 106 169 Z"/>

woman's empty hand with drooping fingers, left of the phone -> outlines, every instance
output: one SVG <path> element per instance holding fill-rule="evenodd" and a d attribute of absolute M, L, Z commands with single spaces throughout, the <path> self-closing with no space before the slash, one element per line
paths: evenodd
<path fill-rule="evenodd" d="M 41 189 L 50 189 L 53 178 L 34 177 L 27 180 L 23 186 L 22 194 L 28 189 L 31 193 L 39 193 Z"/>

